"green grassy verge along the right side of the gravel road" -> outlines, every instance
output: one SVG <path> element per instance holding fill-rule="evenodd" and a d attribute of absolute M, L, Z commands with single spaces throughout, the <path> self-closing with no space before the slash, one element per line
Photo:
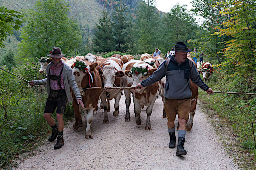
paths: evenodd
<path fill-rule="evenodd" d="M 232 77 L 220 73 L 218 76 L 215 74 L 207 82 L 207 85 L 213 91 L 256 92 L 254 77 Z M 199 100 L 207 111 L 220 117 L 223 124 L 227 124 L 233 129 L 232 134 L 236 138 L 235 145 L 239 148 L 239 152 L 246 155 L 236 159 L 238 161 L 246 159 L 254 166 L 254 168 L 250 167 L 249 169 L 256 169 L 256 149 L 253 136 L 254 129 L 256 137 L 256 96 L 220 93 L 208 95 L 199 90 Z"/>

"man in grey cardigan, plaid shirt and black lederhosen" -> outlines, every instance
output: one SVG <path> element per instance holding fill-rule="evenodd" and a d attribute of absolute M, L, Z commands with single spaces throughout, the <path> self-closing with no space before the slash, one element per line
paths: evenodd
<path fill-rule="evenodd" d="M 61 49 L 59 47 L 53 47 L 52 51 L 47 56 L 52 58 L 52 62 L 46 67 L 47 78 L 43 80 L 33 80 L 29 83 L 31 85 L 46 85 L 47 87 L 48 98 L 45 105 L 44 118 L 52 127 L 52 135 L 48 140 L 53 142 L 57 138 L 54 149 L 59 149 L 64 145 L 63 113 L 65 111 L 67 101 L 69 103 L 73 101 L 70 87 L 76 97 L 77 103 L 83 108 L 84 104 L 82 102 L 82 97 L 76 84 L 75 77 L 72 73 L 72 68 L 60 60 L 61 57 L 65 56 L 61 53 Z M 51 117 L 51 114 L 54 113 L 56 107 L 58 126 Z"/>

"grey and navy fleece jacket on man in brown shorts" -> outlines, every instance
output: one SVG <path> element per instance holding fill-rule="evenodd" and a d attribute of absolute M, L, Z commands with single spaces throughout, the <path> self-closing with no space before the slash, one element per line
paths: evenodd
<path fill-rule="evenodd" d="M 196 66 L 192 64 L 190 69 L 189 59 L 178 64 L 174 57 L 170 59 L 166 71 L 166 61 L 164 61 L 158 69 L 146 80 L 141 82 L 143 87 L 161 80 L 166 75 L 164 96 L 167 99 L 186 99 L 192 95 L 190 89 L 189 78 L 204 91 L 209 87 L 201 79 Z"/>

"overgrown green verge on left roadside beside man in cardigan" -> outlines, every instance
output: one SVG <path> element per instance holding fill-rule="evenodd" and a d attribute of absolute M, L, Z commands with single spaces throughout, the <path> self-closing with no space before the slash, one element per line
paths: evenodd
<path fill-rule="evenodd" d="M 29 81 L 45 78 L 45 74 L 39 73 L 36 63 L 12 68 L 11 72 Z M 43 118 L 46 98 L 44 86 L 31 87 L 0 70 L 0 169 L 12 168 L 14 158 L 18 159 L 19 154 L 33 150 L 49 135 L 50 126 Z M 69 104 L 64 120 L 72 115 Z"/>

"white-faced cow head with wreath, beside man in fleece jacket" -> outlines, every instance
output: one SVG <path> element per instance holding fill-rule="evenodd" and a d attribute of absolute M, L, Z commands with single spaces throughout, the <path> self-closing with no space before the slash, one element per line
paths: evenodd
<path fill-rule="evenodd" d="M 133 84 L 131 87 L 136 87 L 137 84 L 141 83 L 143 80 L 146 80 L 150 75 L 156 71 L 157 68 L 153 68 L 148 64 L 134 64 L 131 70 L 125 70 L 124 74 L 133 79 Z M 146 87 L 141 89 L 131 89 L 131 92 L 136 92 L 142 94 Z"/>

